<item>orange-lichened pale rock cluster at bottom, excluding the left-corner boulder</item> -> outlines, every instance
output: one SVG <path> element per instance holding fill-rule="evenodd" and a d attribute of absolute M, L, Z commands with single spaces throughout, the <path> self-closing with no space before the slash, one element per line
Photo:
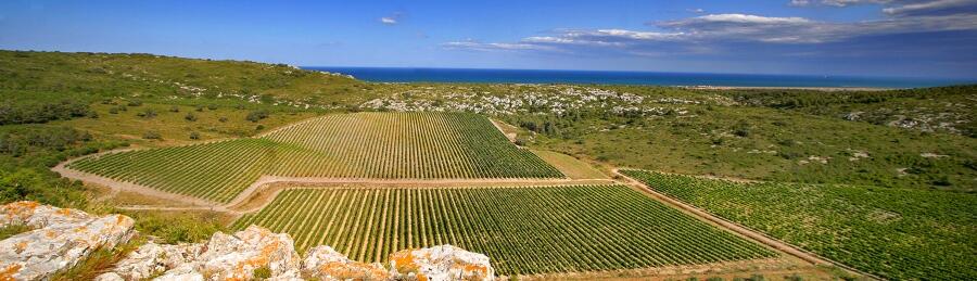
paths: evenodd
<path fill-rule="evenodd" d="M 201 251 L 202 248 L 202 251 Z M 198 254 L 199 253 L 199 254 Z M 330 246 L 299 259 L 288 234 L 249 227 L 233 235 L 215 233 L 205 244 L 145 244 L 100 281 L 141 280 L 493 280 L 488 257 L 451 246 L 405 250 L 390 256 L 391 268 L 352 260 Z"/>

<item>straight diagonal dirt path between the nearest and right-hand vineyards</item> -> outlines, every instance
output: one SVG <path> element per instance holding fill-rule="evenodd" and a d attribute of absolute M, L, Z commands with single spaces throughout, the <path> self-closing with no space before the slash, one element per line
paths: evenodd
<path fill-rule="evenodd" d="M 814 253 L 811 253 L 811 252 L 808 252 L 808 251 L 805 251 L 805 250 L 796 247 L 796 246 L 790 245 L 790 244 L 788 244 L 788 243 L 785 243 L 785 242 L 783 242 L 783 241 L 781 241 L 781 240 L 777 240 L 777 239 L 775 239 L 775 238 L 769 237 L 769 235 L 766 235 L 766 234 L 764 234 L 764 233 L 762 233 L 762 232 L 759 232 L 759 231 L 752 230 L 752 229 L 750 229 L 750 228 L 740 226 L 740 225 L 738 225 L 738 223 L 736 223 L 736 222 L 726 220 L 726 219 L 721 218 L 721 217 L 713 216 L 712 214 L 710 214 L 710 213 L 708 213 L 708 212 L 706 212 L 706 210 L 703 210 L 703 209 L 700 209 L 700 208 L 695 207 L 695 206 L 693 206 L 693 205 L 686 204 L 686 203 L 684 203 L 684 202 L 682 202 L 682 201 L 678 201 L 678 200 L 672 199 L 672 197 L 670 197 L 670 196 L 668 196 L 668 195 L 664 195 L 664 194 L 662 194 L 662 193 L 659 193 L 659 192 L 655 191 L 654 188 L 646 186 L 644 182 L 640 182 L 640 181 L 638 181 L 638 180 L 632 179 L 631 177 L 627 177 L 627 176 L 625 176 L 624 174 L 621 174 L 620 170 L 619 170 L 618 168 L 612 169 L 612 171 L 614 173 L 614 175 L 618 175 L 618 176 L 620 176 L 622 179 L 624 179 L 624 181 L 625 181 L 626 184 L 632 186 L 632 187 L 637 187 L 638 190 L 640 190 L 640 191 L 643 191 L 643 192 L 645 192 L 645 193 L 651 195 L 652 197 L 655 197 L 655 199 L 657 199 L 657 200 L 659 200 L 659 201 L 661 201 L 661 202 L 663 202 L 663 203 L 665 203 L 665 204 L 669 204 L 669 205 L 671 205 L 671 206 L 673 206 L 673 207 L 675 207 L 675 208 L 685 210 L 686 213 L 693 214 L 693 215 L 695 215 L 696 217 L 698 217 L 698 218 L 700 218 L 700 219 L 702 219 L 702 220 L 706 220 L 706 221 L 708 221 L 708 222 L 711 222 L 711 223 L 721 226 L 721 227 L 723 227 L 723 228 L 725 228 L 725 229 L 732 230 L 733 232 L 735 232 L 735 233 L 737 233 L 737 234 L 739 234 L 739 235 L 749 238 L 749 239 L 751 239 L 751 240 L 753 240 L 753 241 L 756 241 L 756 242 L 759 242 L 759 243 L 762 243 L 762 244 L 767 245 L 767 246 L 770 246 L 770 247 L 776 248 L 777 251 L 787 253 L 787 254 L 789 254 L 789 255 L 791 255 L 791 256 L 796 256 L 796 257 L 798 257 L 798 258 L 800 258 L 800 259 L 803 259 L 803 260 L 805 260 L 805 261 L 808 261 L 808 263 L 811 263 L 811 264 L 814 264 L 814 265 L 837 266 L 837 267 L 839 267 L 839 268 L 842 268 L 842 269 L 845 269 L 845 270 L 850 271 L 851 273 L 857 273 L 857 274 L 861 274 L 861 276 L 874 278 L 874 279 L 877 279 L 877 280 L 881 280 L 881 278 L 878 278 L 878 277 L 875 277 L 875 276 L 872 276 L 872 274 L 862 272 L 862 271 L 860 271 L 860 270 L 858 270 L 858 269 L 848 267 L 848 266 L 842 265 L 842 264 L 840 264 L 840 263 L 837 263 L 837 261 L 834 261 L 834 260 L 830 260 L 830 259 L 823 258 L 823 257 L 821 257 L 821 256 L 817 256 L 817 255 L 814 254 Z"/>

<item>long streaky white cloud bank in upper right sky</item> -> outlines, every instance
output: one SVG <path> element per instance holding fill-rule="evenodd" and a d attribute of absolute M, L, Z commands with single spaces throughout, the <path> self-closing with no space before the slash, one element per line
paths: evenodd
<path fill-rule="evenodd" d="M 756 44 L 823 44 L 900 34 L 977 31 L 977 0 L 794 0 L 796 5 L 848 7 L 879 4 L 889 16 L 863 22 L 833 23 L 796 16 L 708 14 L 651 22 L 648 30 L 557 29 L 516 42 L 449 42 L 471 50 L 620 51 L 636 55 L 714 52 L 726 47 Z M 583 50 L 586 49 L 586 50 Z"/>

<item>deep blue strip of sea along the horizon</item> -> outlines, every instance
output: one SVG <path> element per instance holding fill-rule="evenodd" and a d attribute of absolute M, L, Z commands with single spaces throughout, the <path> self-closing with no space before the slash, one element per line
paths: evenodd
<path fill-rule="evenodd" d="M 302 68 L 347 74 L 357 79 L 375 82 L 604 84 L 804 88 L 921 88 L 977 82 L 974 80 L 826 75 L 328 66 L 305 66 Z"/>

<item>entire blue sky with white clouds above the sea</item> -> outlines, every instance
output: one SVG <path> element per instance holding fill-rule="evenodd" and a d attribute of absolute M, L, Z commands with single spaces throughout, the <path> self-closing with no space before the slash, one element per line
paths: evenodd
<path fill-rule="evenodd" d="M 977 0 L 4 0 L 0 49 L 977 79 Z"/>

